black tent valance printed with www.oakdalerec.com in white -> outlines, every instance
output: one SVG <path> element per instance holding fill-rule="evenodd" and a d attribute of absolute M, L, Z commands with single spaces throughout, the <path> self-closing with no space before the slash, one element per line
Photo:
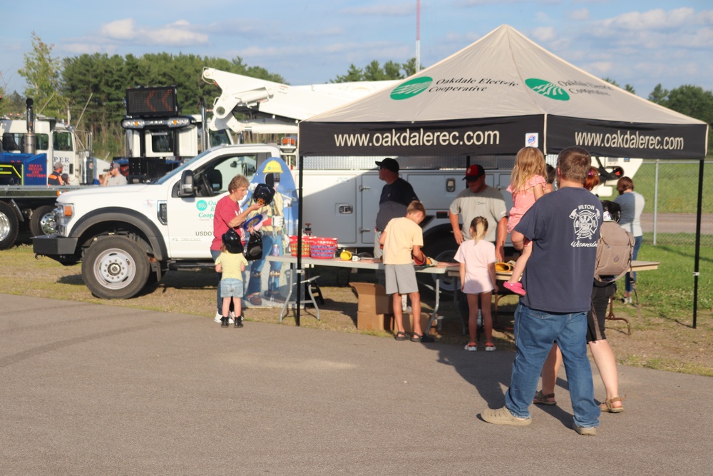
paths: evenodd
<path fill-rule="evenodd" d="M 545 153 L 559 153 L 576 144 L 595 156 L 700 158 L 707 144 L 704 123 L 628 123 L 544 115 L 436 122 L 304 122 L 299 130 L 309 138 L 300 146 L 303 156 L 506 155 L 517 153 L 527 137 L 544 137 L 538 146 Z"/>

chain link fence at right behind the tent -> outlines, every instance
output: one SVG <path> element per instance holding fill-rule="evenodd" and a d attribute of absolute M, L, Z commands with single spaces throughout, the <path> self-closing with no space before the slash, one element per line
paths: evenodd
<path fill-rule="evenodd" d="M 632 177 L 635 191 L 644 196 L 641 216 L 644 243 L 648 245 L 694 245 L 698 207 L 700 161 L 645 160 Z M 713 246 L 713 161 L 704 161 L 701 246 Z M 613 200 L 616 188 L 610 197 Z"/>

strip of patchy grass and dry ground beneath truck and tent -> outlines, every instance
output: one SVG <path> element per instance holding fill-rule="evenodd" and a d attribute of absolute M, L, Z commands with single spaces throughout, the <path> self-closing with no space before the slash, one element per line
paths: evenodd
<path fill-rule="evenodd" d="M 87 303 L 119 305 L 172 313 L 187 313 L 205 318 L 213 325 L 215 313 L 215 273 L 210 271 L 180 271 L 168 273 L 162 283 L 129 300 L 101 300 L 88 291 L 81 279 L 81 265 L 63 267 L 48 258 L 36 260 L 31 245 L 19 245 L 0 252 L 3 293 L 41 298 L 76 300 Z M 639 273 L 637 284 L 642 318 L 636 308 L 615 304 L 615 315 L 630 320 L 632 334 L 622 321 L 607 323 L 607 340 L 626 365 L 658 370 L 670 370 L 694 375 L 713 376 L 713 249 L 704 248 L 701 256 L 697 294 L 697 328 L 693 328 L 694 279 L 693 249 L 690 246 L 642 246 L 641 260 L 660 261 L 660 269 Z M 302 311 L 301 325 L 307 328 L 361 333 L 356 330 L 356 296 L 346 286 L 347 279 L 373 280 L 370 274 L 348 276 L 345 270 L 319 268 L 322 292 L 327 303 L 321 307 L 321 320 Z M 621 288 L 622 286 L 620 286 Z M 621 290 L 618 295 L 621 295 Z M 424 295 L 424 307 L 432 298 Z M 495 332 L 498 351 L 513 350 L 512 311 L 516 300 L 506 296 L 501 300 L 501 313 Z M 443 345 L 464 345 L 461 321 L 450 299 L 441 300 L 439 315 L 446 317 L 437 340 Z M 248 321 L 278 323 L 277 308 L 247 310 Z M 295 325 L 292 315 L 282 325 Z M 392 338 L 391 333 L 370 332 L 376 337 Z"/>

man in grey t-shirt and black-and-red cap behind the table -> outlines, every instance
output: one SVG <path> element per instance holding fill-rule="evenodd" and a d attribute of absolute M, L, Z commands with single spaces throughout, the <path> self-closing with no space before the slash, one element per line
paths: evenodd
<path fill-rule="evenodd" d="M 505 240 L 508 236 L 508 209 L 503 194 L 496 188 L 486 185 L 486 171 L 483 166 L 474 164 L 466 169 L 466 190 L 458 193 L 456 199 L 448 209 L 448 218 L 451 220 L 453 236 L 460 245 L 470 238 L 467 233 L 471 221 L 476 216 L 488 220 L 488 233 L 486 240 L 495 243 L 495 254 L 498 261 L 505 257 Z M 463 231 L 458 223 L 463 218 Z M 466 236 L 463 236 L 465 233 Z"/>

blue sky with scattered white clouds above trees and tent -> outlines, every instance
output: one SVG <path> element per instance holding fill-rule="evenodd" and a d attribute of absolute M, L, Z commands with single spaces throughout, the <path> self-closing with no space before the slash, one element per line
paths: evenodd
<path fill-rule="evenodd" d="M 167 51 L 262 66 L 292 85 L 325 83 L 376 59 L 416 56 L 416 0 L 11 1 L 2 9 L 0 85 L 17 73 L 31 32 L 53 56 Z M 421 0 L 421 64 L 430 66 L 501 24 L 575 66 L 647 97 L 694 84 L 713 90 L 710 0 Z M 127 85 L 133 86 L 133 85 Z"/>

